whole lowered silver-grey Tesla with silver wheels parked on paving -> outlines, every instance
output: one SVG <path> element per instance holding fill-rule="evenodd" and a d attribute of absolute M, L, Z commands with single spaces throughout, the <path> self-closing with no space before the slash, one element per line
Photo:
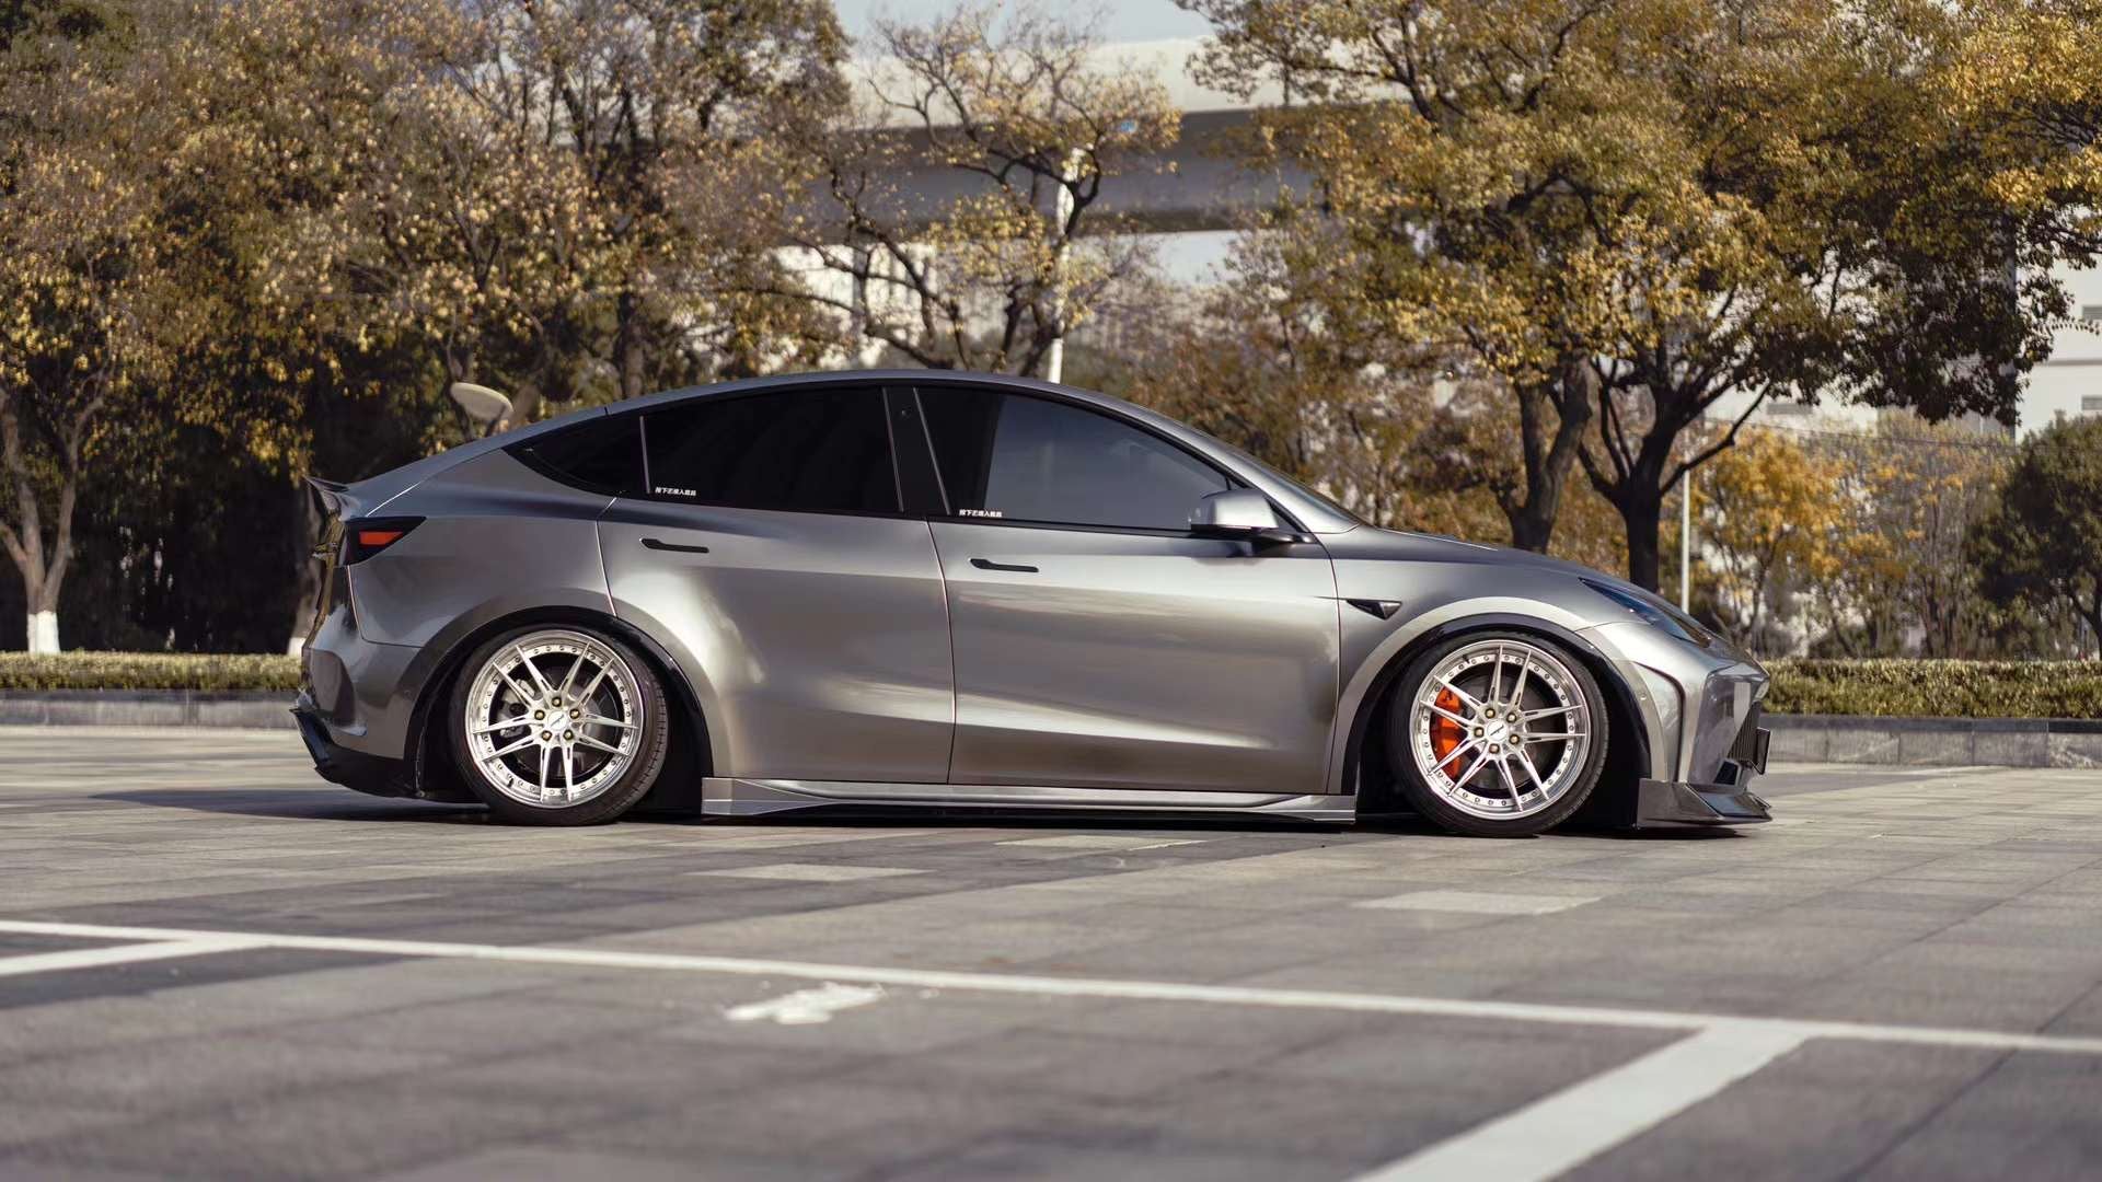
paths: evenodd
<path fill-rule="evenodd" d="M 332 509 L 322 776 L 538 824 L 1083 808 L 1766 820 L 1766 673 L 1658 597 L 1373 528 L 1143 408 L 952 372 L 683 389 Z"/>

